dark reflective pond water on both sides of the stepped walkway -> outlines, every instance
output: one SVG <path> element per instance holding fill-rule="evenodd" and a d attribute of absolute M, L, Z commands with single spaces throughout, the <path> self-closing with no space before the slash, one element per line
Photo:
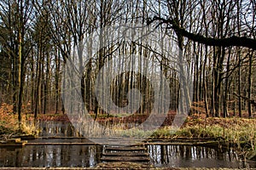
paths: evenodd
<path fill-rule="evenodd" d="M 44 123 L 43 137 L 79 137 L 72 125 Z M 87 139 L 34 139 L 30 143 L 88 142 Z M 95 167 L 101 162 L 102 145 L 26 145 L 0 148 L 0 167 Z M 154 167 L 256 167 L 256 161 L 241 161 L 235 150 L 191 145 L 148 145 Z"/>

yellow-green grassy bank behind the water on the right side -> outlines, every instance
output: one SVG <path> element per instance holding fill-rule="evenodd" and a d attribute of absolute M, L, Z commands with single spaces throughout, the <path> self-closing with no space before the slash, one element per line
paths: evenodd
<path fill-rule="evenodd" d="M 160 128 L 154 134 L 155 138 L 221 138 L 225 141 L 237 144 L 247 144 L 247 147 L 255 149 L 256 146 L 256 119 L 244 118 L 188 118 L 176 133 L 168 127 Z"/>

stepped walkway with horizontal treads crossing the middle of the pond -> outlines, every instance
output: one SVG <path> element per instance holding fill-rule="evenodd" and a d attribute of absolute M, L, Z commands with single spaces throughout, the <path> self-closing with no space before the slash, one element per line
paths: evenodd
<path fill-rule="evenodd" d="M 110 169 L 148 169 L 148 148 L 137 139 L 108 139 L 104 146 L 101 163 L 96 167 Z"/>

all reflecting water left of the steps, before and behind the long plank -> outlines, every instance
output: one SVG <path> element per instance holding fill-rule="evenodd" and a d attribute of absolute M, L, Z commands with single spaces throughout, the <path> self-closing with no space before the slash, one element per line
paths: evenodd
<path fill-rule="evenodd" d="M 40 137 L 79 137 L 69 122 L 40 122 Z M 32 143 L 79 143 L 86 139 L 35 139 Z M 94 167 L 102 156 L 100 145 L 27 145 L 0 149 L 0 167 Z"/>

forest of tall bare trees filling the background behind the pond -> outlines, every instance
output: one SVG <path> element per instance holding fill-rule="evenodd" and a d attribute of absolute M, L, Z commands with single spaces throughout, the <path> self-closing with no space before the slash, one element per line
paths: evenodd
<path fill-rule="evenodd" d="M 254 131 L 255 55 L 255 0 L 2 0 L 0 114 L 15 118 L 1 128 L 85 111 L 109 127 L 165 112 L 160 127 L 185 115 L 223 123 L 222 138 Z"/>

